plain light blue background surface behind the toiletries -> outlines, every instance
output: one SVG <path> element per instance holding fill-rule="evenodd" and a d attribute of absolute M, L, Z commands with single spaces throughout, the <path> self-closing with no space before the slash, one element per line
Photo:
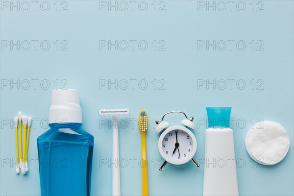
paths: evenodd
<path fill-rule="evenodd" d="M 2 0 L 0 2 L 3 3 Z M 165 5 L 166 11 L 161 12 L 153 11 L 153 1 L 146 1 L 147 11 L 138 9 L 139 1 L 134 11 L 131 8 L 127 11 L 108 11 L 107 7 L 101 7 L 99 11 L 98 1 L 70 0 L 66 1 L 68 11 L 65 12 L 55 11 L 55 1 L 48 2 L 49 11 L 40 9 L 41 1 L 36 11 L 16 11 L 15 8 L 10 11 L 9 7 L 1 6 L 1 40 L 20 40 L 20 44 L 24 40 L 39 42 L 36 50 L 33 44 L 30 49 L 24 50 L 26 42 L 23 42 L 20 50 L 17 47 L 0 50 L 1 84 L 10 80 L 17 82 L 17 79 L 22 84 L 19 90 L 17 86 L 10 88 L 10 85 L 1 88 L 0 195 L 40 195 L 38 165 L 32 163 L 24 176 L 15 174 L 15 165 L 11 168 L 10 164 L 4 164 L 11 158 L 15 161 L 15 132 L 12 125 L 5 125 L 5 120 L 13 119 L 19 110 L 39 119 L 33 122 L 35 127 L 31 129 L 28 150 L 30 160 L 37 158 L 36 139 L 48 130 L 46 121 L 42 120 L 48 118 L 51 90 L 56 88 L 56 84 L 59 88 L 67 84 L 66 87 L 79 90 L 83 129 L 95 137 L 92 195 L 111 195 L 111 168 L 103 163 L 111 158 L 112 130 L 107 125 L 101 125 L 105 121 L 98 117 L 98 109 L 104 108 L 130 108 L 130 119 L 137 119 L 141 109 L 147 111 L 150 123 L 147 131 L 150 195 L 201 195 L 204 170 L 201 158 L 204 157 L 207 124 L 204 122 L 207 119 L 205 107 L 209 106 L 232 106 L 231 118 L 236 119 L 232 128 L 236 159 L 239 160 L 237 173 L 240 195 L 294 195 L 292 0 L 266 0 L 261 4 L 255 1 L 254 11 L 249 4 L 251 1 L 244 1 L 245 11 L 236 9 L 237 1 L 232 11 L 228 4 L 225 11 L 212 11 L 211 8 L 206 11 L 200 1 L 170 0 L 165 1 L 166 5 L 157 1 L 156 10 Z M 46 8 L 45 4 L 43 6 Z M 58 10 L 64 6 L 66 4 L 59 1 Z M 264 11 L 255 11 L 260 6 Z M 43 40 L 50 43 L 48 50 L 40 49 L 39 44 Z M 105 44 L 103 40 L 111 40 L 112 43 L 126 40 L 129 48 L 122 50 L 125 42 L 121 42 L 118 50 L 115 47 L 108 50 L 101 46 Z M 130 40 L 137 40 L 134 50 L 130 48 Z M 138 48 L 140 40 L 148 43 L 146 50 Z M 156 50 L 152 44 L 154 40 Z M 206 40 L 209 43 L 216 40 L 216 50 L 213 47 L 208 50 L 200 47 Z M 229 40 L 235 41 L 232 50 L 229 49 Z M 244 50 L 236 48 L 240 40 L 246 43 Z M 227 47 L 221 50 L 223 42 Z M 68 50 L 60 50 L 67 43 L 65 48 Z M 163 48 L 166 50 L 158 50 L 165 43 Z M 239 43 L 242 47 L 243 42 Z M 1 43 L 1 47 L 3 44 L 7 42 Z M 25 79 L 30 81 L 28 90 L 25 90 Z M 32 79 L 39 79 L 35 80 L 36 89 Z M 47 90 L 44 90 L 45 79 L 50 84 Z M 114 83 L 116 79 L 119 85 L 117 89 L 113 85 L 110 90 L 107 85 L 101 86 L 105 81 Z M 134 88 L 132 79 L 137 80 Z M 212 85 L 206 86 L 214 79 L 215 89 Z M 230 79 L 235 80 L 232 88 L 229 86 Z M 41 80 L 45 81 L 42 88 Z M 125 80 L 128 81 L 126 89 Z M 148 86 L 143 90 L 145 80 Z M 226 87 L 223 89 L 224 81 Z M 241 90 L 244 82 L 246 86 Z M 157 84 L 156 90 L 154 83 Z M 197 128 L 194 133 L 198 144 L 195 158 L 201 164 L 199 169 L 189 162 L 183 166 L 168 164 L 163 172 L 158 171 L 162 160 L 157 149 L 159 135 L 153 123 L 154 119 L 172 110 L 184 111 L 189 117 L 195 118 Z M 289 152 L 275 166 L 260 166 L 252 162 L 245 150 L 245 135 L 258 119 L 281 123 L 289 133 Z M 182 116 L 170 116 L 167 120 L 171 124 L 179 124 Z M 125 166 L 128 161 L 128 165 L 121 169 L 122 195 L 141 195 L 141 168 L 138 164 L 141 157 L 140 131 L 137 121 L 128 120 L 128 126 L 122 128 L 125 122 L 121 122 L 119 130 L 121 164 Z M 134 160 L 133 167 L 131 160 Z"/>

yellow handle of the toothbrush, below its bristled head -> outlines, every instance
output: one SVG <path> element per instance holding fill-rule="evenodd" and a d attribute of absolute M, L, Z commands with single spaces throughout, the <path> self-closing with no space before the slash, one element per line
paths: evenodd
<path fill-rule="evenodd" d="M 148 196 L 146 132 L 141 133 L 142 143 L 142 195 Z"/>

